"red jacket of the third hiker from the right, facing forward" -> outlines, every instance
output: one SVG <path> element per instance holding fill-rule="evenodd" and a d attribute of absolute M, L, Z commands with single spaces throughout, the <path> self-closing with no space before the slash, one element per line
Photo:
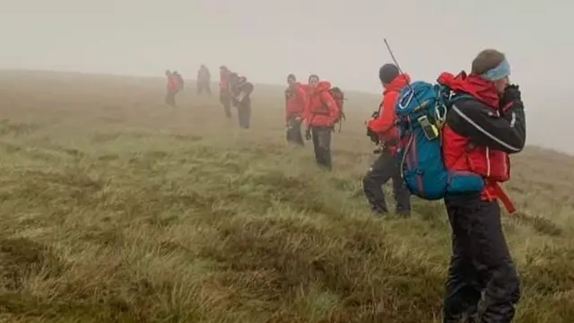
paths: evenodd
<path fill-rule="evenodd" d="M 331 83 L 321 81 L 315 87 L 305 86 L 307 89 L 308 105 L 304 119 L 309 126 L 333 127 L 339 116 L 337 103 L 329 93 Z"/>

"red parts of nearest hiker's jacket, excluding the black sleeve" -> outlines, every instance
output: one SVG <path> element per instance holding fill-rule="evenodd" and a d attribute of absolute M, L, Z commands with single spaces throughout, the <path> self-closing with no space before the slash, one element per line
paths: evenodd
<path fill-rule="evenodd" d="M 457 77 L 452 74 L 441 74 L 439 83 L 448 85 L 455 92 L 470 94 L 479 100 L 484 107 L 491 108 L 493 116 L 500 116 L 500 99 L 493 84 L 478 75 L 463 74 Z M 465 102 L 455 103 L 455 106 Z M 487 108 L 485 108 L 487 109 Z M 499 183 L 510 179 L 509 153 L 491 149 L 487 146 L 471 143 L 470 138 L 459 135 L 447 124 L 442 129 L 443 158 L 448 170 L 472 171 L 485 180 L 486 186 L 481 193 L 485 200 L 500 198 L 509 212 L 514 206 L 506 196 Z"/>

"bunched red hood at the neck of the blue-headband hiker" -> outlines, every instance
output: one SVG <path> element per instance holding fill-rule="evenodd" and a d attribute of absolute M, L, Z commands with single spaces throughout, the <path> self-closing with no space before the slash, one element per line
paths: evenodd
<path fill-rule="evenodd" d="M 469 74 L 467 76 L 465 72 L 461 72 L 455 76 L 448 72 L 444 72 L 439 75 L 437 81 L 440 84 L 447 85 L 454 91 L 470 94 L 492 108 L 499 108 L 500 97 L 494 87 L 494 83 L 484 80 L 477 74 Z"/>

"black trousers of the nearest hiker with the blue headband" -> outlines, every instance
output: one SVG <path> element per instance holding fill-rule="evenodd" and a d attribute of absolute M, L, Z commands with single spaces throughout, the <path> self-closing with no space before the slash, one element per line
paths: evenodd
<path fill-rule="evenodd" d="M 443 322 L 511 322 L 520 299 L 520 281 L 502 231 L 499 204 L 483 201 L 478 194 L 449 196 L 445 204 L 452 228 L 452 257 Z"/>

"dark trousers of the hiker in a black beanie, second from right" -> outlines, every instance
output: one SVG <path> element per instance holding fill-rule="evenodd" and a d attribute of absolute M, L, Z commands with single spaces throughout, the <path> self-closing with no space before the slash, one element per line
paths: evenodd
<path fill-rule="evenodd" d="M 369 171 L 362 179 L 362 188 L 370 208 L 378 213 L 388 212 L 383 185 L 389 179 L 393 180 L 393 195 L 396 201 L 396 213 L 408 215 L 411 213 L 411 194 L 404 186 L 401 172 L 396 158 L 388 151 L 382 152 L 370 166 Z"/>

